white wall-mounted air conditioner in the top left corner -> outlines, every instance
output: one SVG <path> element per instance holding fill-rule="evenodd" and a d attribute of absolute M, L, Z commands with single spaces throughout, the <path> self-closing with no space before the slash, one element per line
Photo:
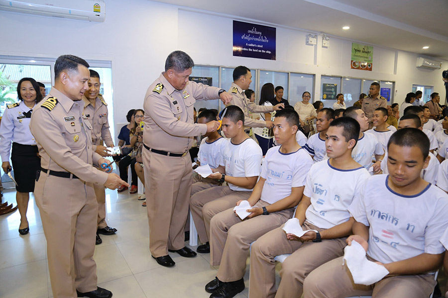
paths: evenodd
<path fill-rule="evenodd" d="M 0 0 L 0 9 L 91 22 L 104 22 L 106 16 L 104 0 Z"/>

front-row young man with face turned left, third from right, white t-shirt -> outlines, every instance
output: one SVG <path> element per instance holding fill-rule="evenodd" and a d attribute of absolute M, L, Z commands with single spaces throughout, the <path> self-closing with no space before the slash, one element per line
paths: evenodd
<path fill-rule="evenodd" d="M 252 206 L 247 209 L 247 219 L 241 221 L 233 208 L 212 218 L 210 264 L 220 268 L 205 287 L 212 293 L 211 298 L 230 298 L 244 290 L 250 243 L 293 217 L 313 165 L 310 155 L 296 142 L 299 126 L 299 115 L 294 110 L 280 110 L 275 115 L 274 138 L 281 147 L 266 153 L 260 179 L 247 199 Z"/>

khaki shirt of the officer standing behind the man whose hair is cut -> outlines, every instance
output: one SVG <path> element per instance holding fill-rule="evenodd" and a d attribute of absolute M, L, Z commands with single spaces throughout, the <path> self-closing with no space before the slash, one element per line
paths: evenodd
<path fill-rule="evenodd" d="M 274 111 L 273 106 L 260 106 L 250 102 L 250 100 L 246 97 L 246 94 L 244 94 L 243 89 L 241 89 L 241 87 L 234 82 L 232 82 L 228 92 L 232 94 L 232 100 L 228 105 L 236 105 L 243 111 L 245 127 L 266 127 L 266 121 L 250 118 L 249 112 L 271 113 Z"/>

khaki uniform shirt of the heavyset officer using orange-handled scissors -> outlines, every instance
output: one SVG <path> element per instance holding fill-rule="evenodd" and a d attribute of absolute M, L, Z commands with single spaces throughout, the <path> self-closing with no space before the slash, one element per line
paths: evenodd
<path fill-rule="evenodd" d="M 194 123 L 196 99 L 218 99 L 220 88 L 189 81 L 183 90 L 176 90 L 160 74 L 148 88 L 143 144 L 151 149 L 184 153 L 193 145 L 193 138 L 207 133 L 206 124 Z"/>

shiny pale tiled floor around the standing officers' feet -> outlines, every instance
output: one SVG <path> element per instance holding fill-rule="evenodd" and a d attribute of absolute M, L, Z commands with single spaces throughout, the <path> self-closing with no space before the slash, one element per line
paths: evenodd
<path fill-rule="evenodd" d="M 204 286 L 215 278 L 217 268 L 210 266 L 209 254 L 183 258 L 170 253 L 176 266 L 158 265 L 149 254 L 149 231 L 146 208 L 137 195 L 127 191 L 117 194 L 107 190 L 107 220 L 118 229 L 112 236 L 101 235 L 96 246 L 98 285 L 114 298 L 207 298 Z M 3 201 L 14 203 L 15 190 L 4 190 Z M 19 235 L 18 211 L 0 216 L 0 297 L 52 297 L 46 259 L 46 241 L 39 210 L 31 195 L 28 208 L 29 234 Z M 196 250 L 196 247 L 193 247 Z M 246 289 L 236 298 L 248 296 Z"/>

